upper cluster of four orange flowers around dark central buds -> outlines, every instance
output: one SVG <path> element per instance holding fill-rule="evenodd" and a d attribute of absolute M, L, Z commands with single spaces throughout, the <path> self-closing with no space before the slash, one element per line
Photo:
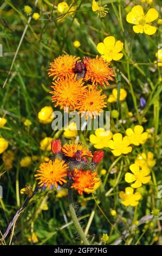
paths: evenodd
<path fill-rule="evenodd" d="M 105 94 L 99 86 L 109 86 L 114 72 L 110 63 L 103 58 L 75 57 L 69 54 L 59 56 L 50 63 L 48 75 L 53 76 L 52 101 L 55 107 L 64 111 L 77 110 L 86 113 L 86 117 L 100 115 L 106 107 Z"/>

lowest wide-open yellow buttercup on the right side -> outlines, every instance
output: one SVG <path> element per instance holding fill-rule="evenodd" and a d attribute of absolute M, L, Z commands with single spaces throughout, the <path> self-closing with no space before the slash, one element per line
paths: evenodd
<path fill-rule="evenodd" d="M 141 199 L 141 194 L 139 192 L 133 193 L 134 190 L 132 187 L 126 187 L 125 192 L 120 191 L 119 197 L 122 199 L 121 203 L 125 206 L 137 206 L 139 200 Z"/>

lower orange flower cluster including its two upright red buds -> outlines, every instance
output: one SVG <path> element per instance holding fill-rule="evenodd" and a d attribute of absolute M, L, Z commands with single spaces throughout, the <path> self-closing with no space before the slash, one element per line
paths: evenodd
<path fill-rule="evenodd" d="M 102 150 L 94 155 L 82 144 L 69 142 L 61 146 L 61 141 L 51 142 L 53 160 L 44 162 L 35 174 L 40 180 L 40 187 L 53 188 L 67 184 L 79 194 L 93 193 L 100 186 L 100 178 L 96 178 L 96 166 L 103 159 Z M 90 159 L 90 160 L 89 160 Z"/>

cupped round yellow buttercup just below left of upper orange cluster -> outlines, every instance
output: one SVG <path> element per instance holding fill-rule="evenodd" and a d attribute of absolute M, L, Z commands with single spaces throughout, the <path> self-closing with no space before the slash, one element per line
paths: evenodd
<path fill-rule="evenodd" d="M 53 108 L 50 106 L 41 108 L 40 112 L 38 113 L 38 119 L 40 123 L 43 123 L 43 124 L 51 123 L 54 119 L 53 112 L 54 112 Z"/>

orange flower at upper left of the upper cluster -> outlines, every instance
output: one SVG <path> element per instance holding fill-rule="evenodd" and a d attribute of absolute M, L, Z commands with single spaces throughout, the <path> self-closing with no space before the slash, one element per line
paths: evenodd
<path fill-rule="evenodd" d="M 56 59 L 54 59 L 54 62 L 50 63 L 48 75 L 54 76 L 53 80 L 55 80 L 56 78 L 57 80 L 60 80 L 60 78 L 73 75 L 75 63 L 79 59 L 80 57 L 75 57 L 69 54 L 57 57 Z"/>

